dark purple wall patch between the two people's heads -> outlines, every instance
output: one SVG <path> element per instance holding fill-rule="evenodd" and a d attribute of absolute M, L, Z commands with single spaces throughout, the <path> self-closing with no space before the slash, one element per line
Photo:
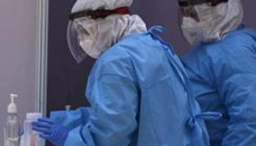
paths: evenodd
<path fill-rule="evenodd" d="M 132 5 L 132 12 L 139 14 L 148 28 L 164 26 L 167 34 L 163 37 L 174 46 L 178 54 L 183 54 L 189 46 L 180 32 L 178 11 L 177 0 L 134 0 Z"/>

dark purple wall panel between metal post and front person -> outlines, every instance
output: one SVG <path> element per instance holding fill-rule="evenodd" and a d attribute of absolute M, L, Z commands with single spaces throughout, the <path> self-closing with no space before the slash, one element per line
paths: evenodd
<path fill-rule="evenodd" d="M 69 9 L 75 0 L 49 1 L 47 111 L 88 106 L 85 83 L 93 60 L 77 64 L 66 39 Z"/>

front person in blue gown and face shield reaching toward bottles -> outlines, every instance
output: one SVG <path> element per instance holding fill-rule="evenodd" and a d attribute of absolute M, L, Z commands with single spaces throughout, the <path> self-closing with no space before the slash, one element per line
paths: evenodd
<path fill-rule="evenodd" d="M 78 62 L 98 58 L 87 84 L 91 107 L 52 112 L 33 129 L 56 146 L 208 146 L 202 118 L 218 115 L 200 113 L 178 56 L 155 34 L 163 28 L 147 31 L 129 15 L 131 4 L 76 2 L 70 50 Z"/>

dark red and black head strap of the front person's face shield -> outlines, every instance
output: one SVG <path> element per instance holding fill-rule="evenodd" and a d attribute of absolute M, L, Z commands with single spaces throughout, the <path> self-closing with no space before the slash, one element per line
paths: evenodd
<path fill-rule="evenodd" d="M 74 20 L 80 17 L 91 17 L 92 19 L 98 19 L 98 18 L 105 18 L 113 14 L 126 15 L 126 14 L 130 14 L 130 10 L 128 7 L 120 7 L 114 10 L 99 9 L 96 11 L 91 11 L 91 10 L 79 11 L 76 13 L 69 14 L 69 19 Z"/>

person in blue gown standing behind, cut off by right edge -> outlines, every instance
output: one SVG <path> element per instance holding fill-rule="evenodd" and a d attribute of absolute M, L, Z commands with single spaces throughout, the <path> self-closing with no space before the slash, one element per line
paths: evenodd
<path fill-rule="evenodd" d="M 256 146 L 256 32 L 241 24 L 240 0 L 179 0 L 182 32 L 194 45 L 184 62 L 212 146 Z"/>

